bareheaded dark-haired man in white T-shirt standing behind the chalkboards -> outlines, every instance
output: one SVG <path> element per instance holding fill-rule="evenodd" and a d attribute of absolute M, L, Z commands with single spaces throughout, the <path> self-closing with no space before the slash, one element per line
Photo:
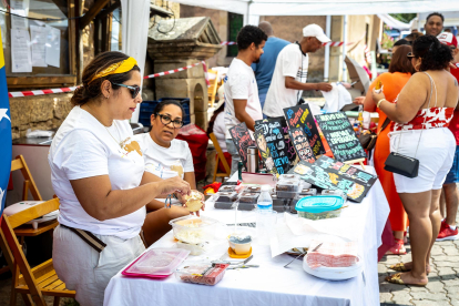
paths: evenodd
<path fill-rule="evenodd" d="M 231 62 L 224 79 L 225 89 L 225 125 L 226 149 L 232 155 L 231 173 L 237 171 L 241 157 L 233 143 L 230 129 L 245 122 L 249 131 L 254 131 L 256 120 L 263 119 L 252 63 L 259 61 L 267 35 L 259 28 L 245 26 L 237 34 L 237 57 Z"/>

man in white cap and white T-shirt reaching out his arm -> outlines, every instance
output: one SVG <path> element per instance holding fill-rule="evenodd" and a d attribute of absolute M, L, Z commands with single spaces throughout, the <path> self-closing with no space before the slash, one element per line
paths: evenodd
<path fill-rule="evenodd" d="M 280 51 L 263 108 L 265 115 L 283 116 L 283 109 L 297 105 L 304 90 L 332 90 L 329 83 L 306 83 L 307 53 L 316 52 L 324 42 L 329 41 L 319 26 L 309 24 L 303 29 L 299 42 L 288 44 Z"/>

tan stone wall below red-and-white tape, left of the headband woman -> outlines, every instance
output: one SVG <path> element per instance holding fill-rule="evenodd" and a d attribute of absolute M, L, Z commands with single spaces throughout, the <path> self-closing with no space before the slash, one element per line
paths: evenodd
<path fill-rule="evenodd" d="M 58 129 L 72 109 L 71 96 L 72 93 L 55 93 L 10 98 L 12 139 L 26 136 L 28 129 Z"/>

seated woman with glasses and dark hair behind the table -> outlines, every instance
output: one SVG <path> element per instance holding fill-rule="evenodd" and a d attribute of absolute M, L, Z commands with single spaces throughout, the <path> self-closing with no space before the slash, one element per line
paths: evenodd
<path fill-rule="evenodd" d="M 175 139 L 183 126 L 184 114 L 185 112 L 180 102 L 175 100 L 162 101 L 151 115 L 150 133 L 137 134 L 134 139 L 142 147 L 145 171 L 154 174 L 159 181 L 178 176 L 187 182 L 192 190 L 195 190 L 193 156 L 188 144 Z M 182 204 L 185 203 L 180 193 L 175 193 L 173 196 Z M 202 197 L 204 200 L 204 196 Z M 164 201 L 157 200 L 146 205 L 146 211 L 155 212 L 162 207 L 164 207 Z M 172 208 L 176 210 L 180 216 L 190 214 L 186 208 L 180 206 L 172 206 Z M 202 210 L 204 210 L 204 205 Z M 161 222 L 165 224 L 164 221 Z M 171 228 L 167 224 L 162 231 L 157 231 L 157 215 L 149 213 L 143 225 L 143 236 L 146 245 L 150 246 L 156 242 Z"/>

